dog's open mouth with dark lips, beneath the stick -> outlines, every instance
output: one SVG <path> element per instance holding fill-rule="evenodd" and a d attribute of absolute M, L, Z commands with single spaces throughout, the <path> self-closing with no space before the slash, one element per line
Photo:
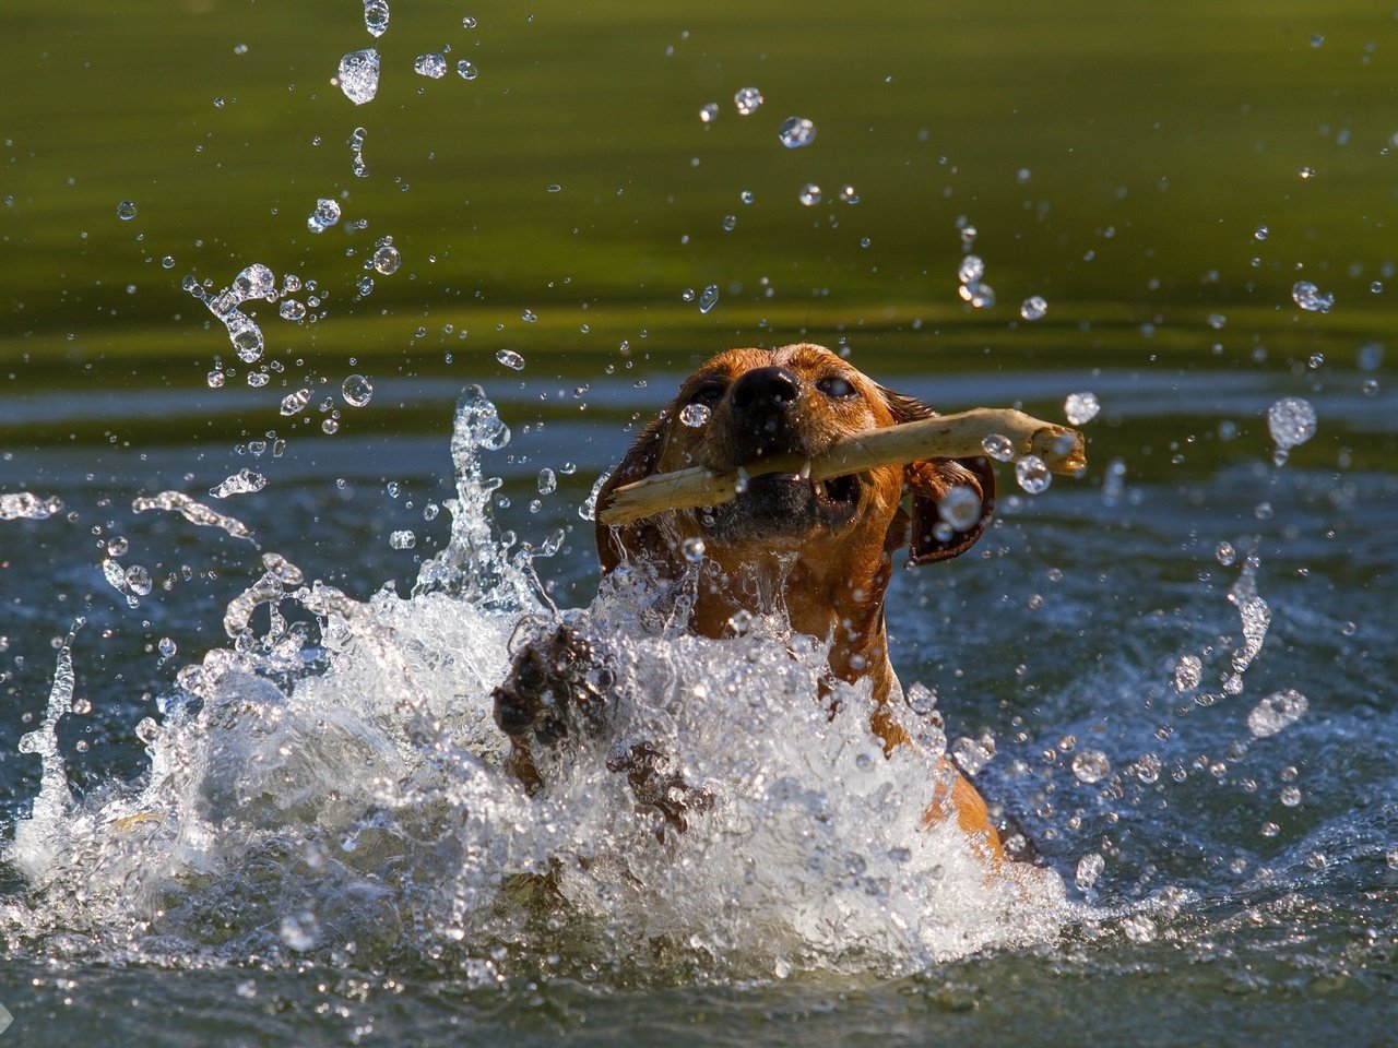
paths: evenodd
<path fill-rule="evenodd" d="M 805 535 L 849 523 L 860 499 L 860 478 L 812 481 L 804 474 L 762 474 L 745 482 L 733 502 L 699 510 L 716 538 Z"/>

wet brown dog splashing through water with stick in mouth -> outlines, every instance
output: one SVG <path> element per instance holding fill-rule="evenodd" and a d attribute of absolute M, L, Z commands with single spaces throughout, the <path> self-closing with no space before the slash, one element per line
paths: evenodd
<path fill-rule="evenodd" d="M 846 435 L 934 414 L 818 345 L 731 349 L 685 380 L 608 478 L 597 506 L 605 507 L 621 485 L 650 474 L 693 465 L 728 472 L 773 454 L 814 458 Z M 953 531 L 938 516 L 939 500 L 956 486 L 980 499 L 979 517 L 965 531 Z M 902 507 L 906 495 L 911 513 Z M 909 546 L 916 565 L 965 552 L 990 523 L 994 495 L 995 478 L 984 458 L 879 467 L 819 483 L 800 474 L 765 474 L 721 506 L 670 510 L 625 527 L 598 523 L 597 549 L 604 574 L 632 562 L 661 581 L 678 581 L 693 572 L 702 548 L 689 629 L 706 637 L 731 636 L 731 623 L 742 613 L 784 612 L 794 632 L 830 643 L 833 678 L 871 681 L 870 724 L 892 752 L 910 743 L 888 710 L 902 701 L 884 629 L 893 552 Z M 510 678 L 496 689 L 496 722 L 512 738 L 512 767 L 530 788 L 541 781 L 534 743 L 556 746 L 577 727 L 601 729 L 611 682 L 598 665 L 586 637 L 559 627 L 520 651 Z M 682 829 L 685 803 L 674 798 L 684 784 L 667 764 L 654 748 L 642 746 L 614 770 L 625 770 L 637 799 Z M 931 787 L 925 822 L 955 815 L 998 861 L 1000 836 L 986 802 L 949 764 L 946 773 L 949 785 Z"/>

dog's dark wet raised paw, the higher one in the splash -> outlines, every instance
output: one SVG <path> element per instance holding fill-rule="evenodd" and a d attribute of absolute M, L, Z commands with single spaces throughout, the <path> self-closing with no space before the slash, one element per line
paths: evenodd
<path fill-rule="evenodd" d="M 577 729 L 601 727 L 614 674 L 591 639 L 558 626 L 526 644 L 496 687 L 495 724 L 512 739 L 554 746 Z"/>

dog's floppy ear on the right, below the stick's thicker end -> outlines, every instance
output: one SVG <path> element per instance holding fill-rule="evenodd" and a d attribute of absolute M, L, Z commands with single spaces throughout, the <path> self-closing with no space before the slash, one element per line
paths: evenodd
<path fill-rule="evenodd" d="M 881 393 L 899 423 L 937 416 L 935 411 L 916 397 L 882 388 Z M 903 471 L 903 486 L 913 496 L 909 553 L 910 563 L 914 565 L 930 565 L 965 553 L 986 534 L 995 510 L 995 472 L 990 467 L 990 460 L 983 456 L 909 463 Z M 946 492 L 958 486 L 976 493 L 980 499 L 980 513 L 965 531 L 952 530 L 946 534 L 946 527 L 938 528 L 942 518 L 937 506 Z M 938 535 L 938 531 L 942 534 Z"/>

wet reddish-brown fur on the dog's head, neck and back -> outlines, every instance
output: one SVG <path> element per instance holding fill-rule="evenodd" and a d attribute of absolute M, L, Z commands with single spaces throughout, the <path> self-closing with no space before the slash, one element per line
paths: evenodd
<path fill-rule="evenodd" d="M 621 485 L 658 472 L 703 465 L 717 472 L 752 468 L 763 451 L 763 439 L 754 439 L 751 419 L 734 408 L 733 390 L 755 369 L 783 369 L 795 376 L 798 391 L 783 412 L 779 433 L 766 435 L 766 453 L 822 454 L 846 435 L 928 418 L 935 412 L 920 401 L 884 388 L 842 358 L 812 344 L 780 349 L 730 349 L 696 369 L 681 386 L 675 400 L 637 437 L 621 465 L 603 486 L 597 504 L 607 504 Z M 830 397 L 822 384 L 847 383 L 853 395 Z M 681 412 L 696 394 L 714 390 L 712 415 L 703 426 L 681 422 Z M 835 387 L 843 391 L 843 387 Z M 770 425 L 770 423 L 769 423 Z M 754 457 L 754 447 L 759 453 Z M 798 485 L 795 478 L 793 486 Z M 981 497 L 980 520 L 967 531 L 938 538 L 937 503 L 955 485 L 966 485 Z M 720 510 L 671 510 L 625 527 L 597 525 L 597 548 L 604 573 L 619 565 L 643 562 L 663 578 L 679 578 L 688 569 L 686 539 L 705 544 L 700 584 L 689 629 L 706 637 L 731 636 L 730 620 L 740 611 L 769 613 L 784 611 L 791 629 L 830 640 L 830 672 L 857 682 L 868 678 L 874 708 L 871 728 L 884 741 L 885 752 L 910 745 L 886 708 L 900 693 L 888 657 L 884 625 L 884 595 L 893 569 L 893 555 L 909 546 L 913 563 L 932 563 L 958 556 L 980 538 L 994 507 L 994 474 L 984 458 L 931 460 L 906 467 L 870 470 L 858 478 L 857 499 L 844 513 L 815 513 L 814 520 L 795 514 L 798 527 L 758 520 L 744 524 L 744 499 L 737 509 L 737 525 L 717 527 Z M 786 495 L 786 492 L 783 492 Z M 911 496 L 911 511 L 902 509 Z M 804 506 L 804 493 L 790 500 Z M 773 516 L 773 514 L 768 514 Z M 706 517 L 709 518 L 706 524 Z M 949 763 L 945 781 L 931 787 L 931 803 L 924 822 L 955 815 L 960 826 L 998 861 L 1000 836 L 990 822 L 986 802 L 976 788 Z"/>

